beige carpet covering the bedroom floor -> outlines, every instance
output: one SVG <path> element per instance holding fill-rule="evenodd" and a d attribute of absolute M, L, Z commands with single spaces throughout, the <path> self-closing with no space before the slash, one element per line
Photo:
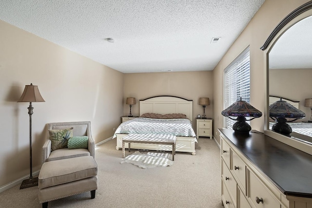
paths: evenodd
<path fill-rule="evenodd" d="M 177 152 L 172 166 L 141 169 L 120 164 L 116 139 L 96 150 L 98 190 L 49 202 L 49 208 L 222 208 L 220 150 L 214 140 L 199 138 L 196 155 Z M 126 156 L 134 153 L 126 151 Z M 1 208 L 41 208 L 38 187 L 0 193 Z"/>

